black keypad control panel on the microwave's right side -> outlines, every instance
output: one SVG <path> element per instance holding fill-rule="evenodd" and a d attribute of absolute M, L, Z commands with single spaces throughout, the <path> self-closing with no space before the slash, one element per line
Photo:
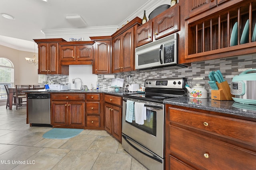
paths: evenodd
<path fill-rule="evenodd" d="M 175 62 L 174 58 L 175 53 L 175 44 L 174 41 L 171 41 L 164 46 L 164 63 Z"/>

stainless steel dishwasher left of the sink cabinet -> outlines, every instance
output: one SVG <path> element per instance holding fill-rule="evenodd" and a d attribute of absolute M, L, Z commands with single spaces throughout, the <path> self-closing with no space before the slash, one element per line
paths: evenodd
<path fill-rule="evenodd" d="M 28 93 L 28 123 L 50 125 L 50 93 Z"/>

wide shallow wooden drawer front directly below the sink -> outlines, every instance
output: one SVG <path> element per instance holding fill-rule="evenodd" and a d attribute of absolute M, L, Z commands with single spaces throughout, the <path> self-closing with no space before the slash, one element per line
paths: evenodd
<path fill-rule="evenodd" d="M 51 94 L 51 100 L 63 100 L 63 101 L 85 101 L 85 94 Z"/>

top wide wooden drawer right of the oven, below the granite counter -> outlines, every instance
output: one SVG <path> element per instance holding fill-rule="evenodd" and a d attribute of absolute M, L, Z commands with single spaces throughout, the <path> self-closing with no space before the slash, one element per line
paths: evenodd
<path fill-rule="evenodd" d="M 188 127 L 211 132 L 222 137 L 238 139 L 256 146 L 256 123 L 202 112 L 169 108 L 170 121 Z"/>

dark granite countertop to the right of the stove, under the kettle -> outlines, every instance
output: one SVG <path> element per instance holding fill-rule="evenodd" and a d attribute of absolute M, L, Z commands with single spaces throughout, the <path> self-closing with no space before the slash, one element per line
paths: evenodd
<path fill-rule="evenodd" d="M 215 111 L 242 117 L 247 120 L 256 121 L 256 106 L 239 104 L 234 101 L 219 101 L 208 99 L 196 99 L 190 97 L 179 97 L 164 100 L 164 104 L 197 108 L 206 111 Z"/>

